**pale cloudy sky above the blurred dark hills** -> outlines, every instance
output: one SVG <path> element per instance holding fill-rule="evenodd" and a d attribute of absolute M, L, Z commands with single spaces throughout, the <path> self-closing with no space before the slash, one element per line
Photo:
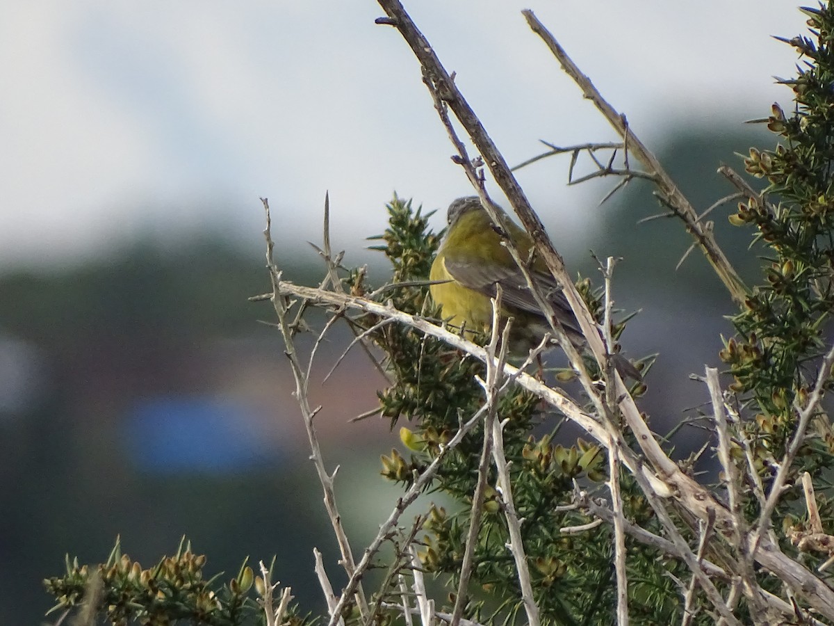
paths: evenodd
<path fill-rule="evenodd" d="M 511 164 L 539 139 L 614 139 L 523 8 L 650 146 L 681 124 L 733 128 L 789 105 L 772 77 L 790 76 L 796 54 L 771 35 L 806 29 L 784 0 L 404 5 Z M 469 194 L 416 60 L 374 24 L 382 14 L 373 0 L 0 2 L 0 272 L 148 235 L 261 246 L 259 197 L 280 256 L 320 240 L 326 191 L 334 246 L 361 254 L 394 190 L 427 209 Z M 550 160 L 520 179 L 545 224 L 574 235 L 605 191 L 567 189 L 566 169 Z"/>

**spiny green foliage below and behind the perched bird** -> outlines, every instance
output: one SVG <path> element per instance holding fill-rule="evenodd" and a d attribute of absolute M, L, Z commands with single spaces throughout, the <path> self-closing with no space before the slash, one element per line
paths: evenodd
<path fill-rule="evenodd" d="M 394 197 L 388 211 L 389 228 L 378 238 L 384 245 L 377 249 L 391 260 L 394 285 L 409 285 L 394 290 L 394 305 L 439 320 L 440 311 L 431 302 L 425 281 L 442 233 L 430 232 L 427 216 L 414 210 L 410 201 Z M 414 286 L 414 282 L 423 284 Z M 580 280 L 578 287 L 590 310 L 601 316 L 602 307 L 590 280 Z M 374 322 L 370 320 L 368 325 Z M 484 366 L 403 326 L 384 326 L 374 334 L 374 341 L 384 350 L 394 375 L 394 384 L 379 392 L 382 415 L 392 427 L 402 419 L 410 422 L 409 427 L 400 429 L 409 458 L 392 450 L 382 457 L 382 473 L 391 480 L 410 483 L 413 472 L 422 471 L 460 423 L 482 406 L 484 391 L 474 376 L 483 376 Z M 525 550 L 544 623 L 610 623 L 615 607 L 610 530 L 601 526 L 578 537 L 565 535 L 560 528 L 589 520 L 572 511 L 556 510 L 570 504 L 575 479 L 590 484 L 605 479 L 604 451 L 581 439 L 570 447 L 553 442 L 559 416 L 543 414 L 537 398 L 517 386 L 501 396 L 498 419 L 507 421 L 504 445 L 511 461 L 515 507 L 525 520 Z M 431 487 L 451 496 L 456 506 L 454 512 L 430 508 L 419 555 L 424 568 L 443 578 L 450 588 L 456 588 L 459 580 L 483 437 L 482 427 L 470 432 L 446 457 Z M 523 618 L 523 611 L 515 563 L 506 548 L 509 536 L 502 505 L 491 487 L 495 485 L 494 473 L 490 473 L 489 484 L 472 574 L 474 589 L 480 588 L 479 600 L 470 603 L 466 616 L 482 623 L 515 623 Z M 651 527 L 653 517 L 636 486 L 625 480 L 624 492 L 630 517 Z M 658 567 L 658 555 L 636 546 L 632 549 L 636 558 L 630 559 L 635 575 L 631 601 L 636 616 L 645 617 L 643 621 L 636 617 L 636 623 L 671 619 L 678 609 L 679 594 L 666 572 L 680 573 L 679 565 Z"/>

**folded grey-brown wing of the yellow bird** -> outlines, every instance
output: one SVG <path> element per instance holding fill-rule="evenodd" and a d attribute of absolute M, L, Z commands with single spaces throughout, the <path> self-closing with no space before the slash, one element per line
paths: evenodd
<path fill-rule="evenodd" d="M 495 285 L 501 285 L 501 301 L 505 307 L 537 316 L 542 315 L 541 307 L 535 301 L 535 296 L 518 267 L 506 267 L 489 262 L 465 262 L 448 256 L 444 260 L 444 265 L 449 275 L 461 285 L 490 297 L 495 297 Z M 573 311 L 553 277 L 537 271 L 532 272 L 532 277 L 540 295 L 550 301 L 556 316 L 562 325 L 566 326 L 566 330 L 581 334 Z"/>

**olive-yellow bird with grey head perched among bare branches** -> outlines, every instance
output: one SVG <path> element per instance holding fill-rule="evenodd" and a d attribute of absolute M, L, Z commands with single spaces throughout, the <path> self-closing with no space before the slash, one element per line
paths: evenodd
<path fill-rule="evenodd" d="M 518 264 L 510 255 L 505 240 L 510 239 L 522 260 L 530 259 L 535 246 L 530 235 L 510 220 L 506 212 L 504 230 L 493 224 L 478 196 L 455 199 L 449 206 L 444 239 L 440 243 L 430 270 L 430 294 L 440 306 L 445 321 L 464 332 L 489 332 L 492 326 L 492 303 L 497 287 L 501 288 L 503 318 L 512 317 L 510 351 L 529 351 L 537 346 L 550 323 Z M 533 258 L 529 269 L 539 295 L 550 303 L 556 319 L 574 346 L 585 346 L 579 322 L 562 293 L 561 285 L 550 275 L 540 258 Z M 640 372 L 624 356 L 615 355 L 620 375 L 641 380 Z"/>

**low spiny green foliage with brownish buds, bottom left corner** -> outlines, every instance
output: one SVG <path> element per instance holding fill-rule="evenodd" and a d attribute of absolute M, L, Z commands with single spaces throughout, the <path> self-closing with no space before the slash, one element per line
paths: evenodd
<path fill-rule="evenodd" d="M 263 578 L 255 576 L 244 560 L 238 575 L 227 583 L 220 582 L 221 574 L 204 579 L 205 563 L 205 555 L 193 553 L 183 538 L 173 557 L 164 557 L 155 567 L 143 569 L 122 553 L 117 541 L 105 563 L 79 565 L 78 558 L 67 556 L 67 572 L 43 583 L 58 601 L 50 613 L 80 606 L 92 596 L 98 598 L 95 612 L 113 626 L 264 623 L 264 609 L 251 593 L 254 588 L 263 596 Z M 309 620 L 300 618 L 291 608 L 285 624 L 307 626 Z"/>

